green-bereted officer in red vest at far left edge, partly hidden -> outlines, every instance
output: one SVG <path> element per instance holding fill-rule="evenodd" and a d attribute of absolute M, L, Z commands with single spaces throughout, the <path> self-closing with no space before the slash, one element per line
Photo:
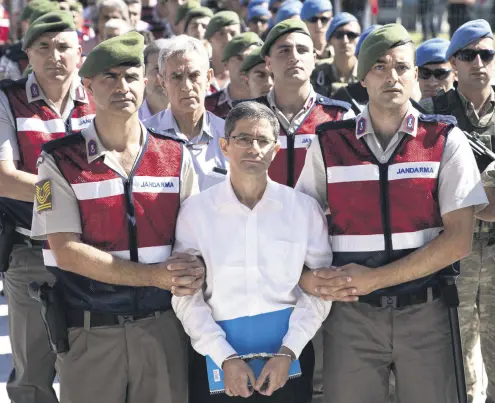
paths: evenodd
<path fill-rule="evenodd" d="M 54 403 L 55 354 L 46 340 L 39 305 L 28 295 L 30 281 L 54 281 L 43 265 L 41 243 L 29 239 L 36 161 L 46 142 L 86 127 L 94 105 L 76 73 L 81 47 L 72 14 L 56 11 L 36 19 L 23 49 L 33 72 L 0 84 L 0 211 L 16 227 L 15 234 L 4 231 L 2 238 L 2 247 L 9 237 L 14 242 L 4 283 L 14 361 L 7 391 L 15 403 Z M 8 262 L 8 250 L 1 252 Z"/>

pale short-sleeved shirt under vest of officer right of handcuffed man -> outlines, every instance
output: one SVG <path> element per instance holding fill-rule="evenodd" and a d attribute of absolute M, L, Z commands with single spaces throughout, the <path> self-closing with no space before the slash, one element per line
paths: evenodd
<path fill-rule="evenodd" d="M 416 137 L 419 114 L 409 104 L 399 131 L 383 150 L 366 106 L 356 117 L 356 138 L 363 138 L 376 159 L 382 164 L 386 163 L 404 136 Z M 327 177 L 318 137 L 313 139 L 308 148 L 296 189 L 314 197 L 322 209 L 327 211 Z M 476 211 L 479 211 L 488 204 L 471 147 L 464 133 L 457 127 L 454 127 L 447 136 L 440 160 L 438 198 L 442 216 L 469 206 L 475 206 Z"/>

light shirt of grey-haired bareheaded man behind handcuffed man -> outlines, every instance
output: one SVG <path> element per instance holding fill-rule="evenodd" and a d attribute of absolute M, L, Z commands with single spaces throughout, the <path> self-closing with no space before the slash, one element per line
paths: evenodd
<path fill-rule="evenodd" d="M 143 123 L 146 127 L 168 132 L 186 141 L 198 174 L 201 191 L 225 180 L 229 163 L 220 150 L 218 140 L 224 137 L 225 121 L 223 119 L 205 111 L 201 133 L 192 140 L 189 140 L 179 130 L 171 108 L 158 112 Z"/>

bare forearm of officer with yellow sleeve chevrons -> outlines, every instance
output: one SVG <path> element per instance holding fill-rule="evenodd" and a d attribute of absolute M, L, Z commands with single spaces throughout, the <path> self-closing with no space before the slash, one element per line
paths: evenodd
<path fill-rule="evenodd" d="M 151 286 L 154 283 L 152 266 L 114 257 L 82 242 L 64 243 L 55 256 L 61 269 L 93 280 L 135 287 Z"/>

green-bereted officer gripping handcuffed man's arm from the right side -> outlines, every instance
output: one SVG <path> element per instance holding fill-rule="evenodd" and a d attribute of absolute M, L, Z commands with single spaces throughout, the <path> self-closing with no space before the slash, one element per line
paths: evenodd
<path fill-rule="evenodd" d="M 455 121 L 422 115 L 409 101 L 417 68 L 407 31 L 373 31 L 358 66 L 367 107 L 317 128 L 296 187 L 330 211 L 340 268 L 301 281 L 338 301 L 323 325 L 325 399 L 385 402 L 394 370 L 399 401 L 456 402 L 440 287 L 470 253 L 474 212 L 487 198 Z"/>

